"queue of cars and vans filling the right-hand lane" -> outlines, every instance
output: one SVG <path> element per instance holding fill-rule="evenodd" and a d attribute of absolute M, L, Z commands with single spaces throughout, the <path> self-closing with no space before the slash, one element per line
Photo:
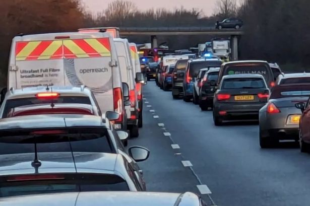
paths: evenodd
<path fill-rule="evenodd" d="M 263 60 L 224 62 L 210 53 L 193 59 L 176 55 L 162 59 L 155 81 L 163 90 L 170 82 L 173 99 L 212 110 L 216 126 L 259 122 L 261 148 L 295 141 L 301 152 L 310 153 L 310 74 L 284 74 L 277 63 Z M 173 68 L 170 75 L 168 68 Z"/>

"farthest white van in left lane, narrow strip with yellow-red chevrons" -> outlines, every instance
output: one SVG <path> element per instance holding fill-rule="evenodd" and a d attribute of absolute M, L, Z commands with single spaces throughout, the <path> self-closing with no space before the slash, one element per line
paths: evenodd
<path fill-rule="evenodd" d="M 140 58 L 137 49 L 137 45 L 135 43 L 129 43 L 132 64 L 134 68 L 134 74 L 141 73 L 141 65 L 140 65 Z M 146 78 L 145 78 L 146 80 Z M 146 84 L 146 81 L 145 83 Z M 143 126 L 143 117 L 142 117 L 142 110 L 143 110 L 143 93 L 142 93 L 142 83 L 136 84 L 136 91 L 138 93 L 138 105 L 139 105 L 139 117 L 138 117 L 138 125 L 139 127 Z"/>

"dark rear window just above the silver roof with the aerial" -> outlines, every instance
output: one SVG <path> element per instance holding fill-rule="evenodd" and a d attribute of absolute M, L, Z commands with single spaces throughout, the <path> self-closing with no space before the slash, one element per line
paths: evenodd
<path fill-rule="evenodd" d="M 109 134 L 104 128 L 47 128 L 0 132 L 0 155 L 34 153 L 35 144 L 37 152 L 115 153 Z"/>

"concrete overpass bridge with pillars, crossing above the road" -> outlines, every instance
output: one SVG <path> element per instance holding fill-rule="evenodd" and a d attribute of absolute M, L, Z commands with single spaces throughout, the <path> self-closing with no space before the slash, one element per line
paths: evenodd
<path fill-rule="evenodd" d="M 152 48 L 158 47 L 157 36 L 174 35 L 210 35 L 210 36 L 230 36 L 232 59 L 238 59 L 238 41 L 243 35 L 242 30 L 236 29 L 215 29 L 212 27 L 120 27 L 120 36 L 145 35 L 151 37 Z"/>

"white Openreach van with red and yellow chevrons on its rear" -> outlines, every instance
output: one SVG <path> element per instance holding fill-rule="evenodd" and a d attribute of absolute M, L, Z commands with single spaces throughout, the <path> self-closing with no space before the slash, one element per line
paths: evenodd
<path fill-rule="evenodd" d="M 103 113 L 115 111 L 125 129 L 122 82 L 115 44 L 105 32 L 20 35 L 13 39 L 8 89 L 85 85 Z"/>

